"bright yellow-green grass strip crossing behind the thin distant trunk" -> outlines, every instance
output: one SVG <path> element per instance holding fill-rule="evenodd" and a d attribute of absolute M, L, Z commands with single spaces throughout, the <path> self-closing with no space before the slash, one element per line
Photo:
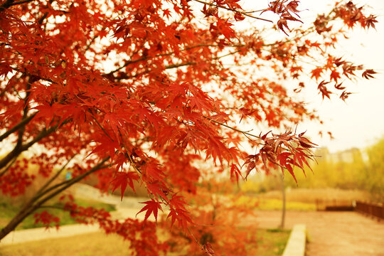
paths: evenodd
<path fill-rule="evenodd" d="M 256 198 L 252 196 L 240 196 L 236 201 L 236 205 L 255 205 L 257 210 L 281 210 L 282 201 L 273 198 Z M 316 210 L 314 203 L 302 203 L 295 201 L 286 202 L 287 210 Z"/>

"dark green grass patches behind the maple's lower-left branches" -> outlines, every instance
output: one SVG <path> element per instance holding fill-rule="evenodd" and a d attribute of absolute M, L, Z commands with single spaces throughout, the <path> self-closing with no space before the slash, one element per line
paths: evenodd
<path fill-rule="evenodd" d="M 115 210 L 114 206 L 109 205 L 107 203 L 98 203 L 94 201 L 85 201 L 85 200 L 78 200 L 78 199 L 75 200 L 75 203 L 83 207 L 92 206 L 94 208 L 104 208 L 107 211 Z M 53 204 L 53 206 L 62 206 L 62 205 L 60 205 L 60 203 L 55 203 Z M 0 202 L 0 228 L 4 227 L 4 225 L 9 223 L 9 220 L 11 220 L 11 218 L 13 218 L 14 215 L 16 215 L 16 213 L 18 213 L 18 210 L 19 208 L 16 206 L 12 206 L 11 204 L 5 203 L 5 202 Z M 60 225 L 68 225 L 68 224 L 76 223 L 75 220 L 70 218 L 70 214 L 68 212 L 65 212 L 60 209 L 53 209 L 53 208 L 48 208 L 44 210 L 47 210 L 49 213 L 55 216 L 58 216 L 58 218 L 60 218 Z M 43 210 L 37 210 L 36 213 L 41 211 Z M 41 225 L 41 223 L 35 224 L 33 215 L 30 215 L 23 221 L 23 223 L 18 225 L 16 230 L 21 230 L 26 228 L 40 228 L 42 226 L 43 225 Z"/>

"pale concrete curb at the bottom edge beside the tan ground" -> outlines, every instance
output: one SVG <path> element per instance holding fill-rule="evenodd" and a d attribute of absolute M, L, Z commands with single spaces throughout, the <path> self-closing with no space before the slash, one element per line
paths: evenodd
<path fill-rule="evenodd" d="M 306 227 L 304 224 L 294 225 L 287 246 L 282 256 L 304 256 L 306 243 Z"/>

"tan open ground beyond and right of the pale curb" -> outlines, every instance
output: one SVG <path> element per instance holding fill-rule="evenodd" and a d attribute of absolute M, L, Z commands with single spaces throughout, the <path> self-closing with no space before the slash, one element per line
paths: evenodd
<path fill-rule="evenodd" d="M 257 211 L 260 228 L 277 228 L 280 211 Z M 252 221 L 252 220 L 248 220 Z M 384 221 L 355 212 L 289 211 L 285 227 L 306 225 L 306 256 L 384 256 Z"/>

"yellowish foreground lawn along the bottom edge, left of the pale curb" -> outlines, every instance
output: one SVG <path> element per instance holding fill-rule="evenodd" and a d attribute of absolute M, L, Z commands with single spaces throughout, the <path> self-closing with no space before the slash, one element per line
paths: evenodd
<path fill-rule="evenodd" d="M 282 255 L 289 231 L 260 229 L 257 234 L 260 237 L 258 256 Z M 101 232 L 0 246 L 1 256 L 126 256 L 130 252 L 128 243 L 118 235 Z"/>

